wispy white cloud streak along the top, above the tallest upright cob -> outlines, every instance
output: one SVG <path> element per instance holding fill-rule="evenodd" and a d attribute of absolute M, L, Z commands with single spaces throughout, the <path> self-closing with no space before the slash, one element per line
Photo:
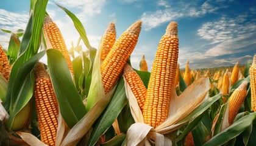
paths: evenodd
<path fill-rule="evenodd" d="M 200 5 L 194 1 L 189 3 L 182 1 L 168 4 L 167 1 L 159 0 L 157 1 L 157 5 L 165 5 L 165 9 L 158 9 L 155 10 L 155 12 L 144 12 L 141 16 L 146 30 L 150 30 L 171 20 L 200 17 L 207 13 L 214 13 L 216 10 L 227 7 L 226 5 L 221 4 L 221 2 L 213 3 L 212 1 L 206 1 Z"/>

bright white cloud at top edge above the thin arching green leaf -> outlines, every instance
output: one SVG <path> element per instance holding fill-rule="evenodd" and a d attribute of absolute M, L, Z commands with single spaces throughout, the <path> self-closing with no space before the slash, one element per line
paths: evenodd
<path fill-rule="evenodd" d="M 101 13 L 101 9 L 105 5 L 105 0 L 56 0 L 56 2 L 68 7 L 75 7 L 76 9 L 82 10 L 81 16 L 93 16 Z"/>

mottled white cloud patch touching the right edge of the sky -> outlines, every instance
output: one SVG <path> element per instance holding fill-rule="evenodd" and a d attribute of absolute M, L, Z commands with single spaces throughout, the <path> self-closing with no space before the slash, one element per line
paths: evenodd
<path fill-rule="evenodd" d="M 256 22 L 246 23 L 249 17 L 222 18 L 202 24 L 197 35 L 208 40 L 213 47 L 205 52 L 208 56 L 219 56 L 244 52 L 243 47 L 256 44 Z"/>

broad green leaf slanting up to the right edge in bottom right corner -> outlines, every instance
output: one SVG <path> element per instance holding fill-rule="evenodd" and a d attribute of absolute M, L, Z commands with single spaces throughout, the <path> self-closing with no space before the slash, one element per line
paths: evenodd
<path fill-rule="evenodd" d="M 249 127 L 255 119 L 256 113 L 250 113 L 249 115 L 242 117 L 241 119 L 230 125 L 230 127 L 226 128 L 226 130 L 223 130 L 221 131 L 221 133 L 213 136 L 212 139 L 204 144 L 204 146 L 218 146 L 225 144 L 226 142 L 230 141 L 231 139 L 242 133 L 244 130 L 246 130 L 246 128 Z"/>

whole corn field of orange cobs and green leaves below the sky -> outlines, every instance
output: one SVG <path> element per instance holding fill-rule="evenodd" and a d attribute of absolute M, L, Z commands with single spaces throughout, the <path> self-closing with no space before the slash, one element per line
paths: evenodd
<path fill-rule="evenodd" d="M 144 55 L 138 71 L 130 54 L 143 21 L 121 36 L 109 23 L 96 49 L 77 16 L 57 4 L 80 35 L 68 49 L 47 4 L 31 0 L 26 30 L 12 33 L 8 49 L 0 45 L 0 145 L 256 145 L 256 55 L 181 69 L 172 21 L 151 72 Z"/>

